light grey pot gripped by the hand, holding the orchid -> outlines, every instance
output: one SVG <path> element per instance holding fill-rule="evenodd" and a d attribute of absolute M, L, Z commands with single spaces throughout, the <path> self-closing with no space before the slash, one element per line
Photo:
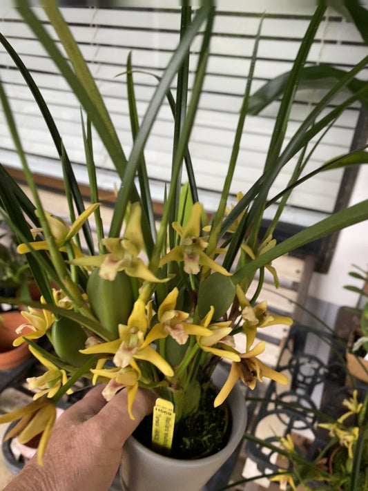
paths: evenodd
<path fill-rule="evenodd" d="M 213 374 L 215 385 L 222 387 L 226 378 L 226 370 L 217 367 Z M 229 404 L 233 424 L 226 447 L 217 454 L 193 460 L 171 459 L 149 450 L 131 436 L 124 445 L 120 468 L 123 490 L 199 491 L 202 489 L 229 459 L 244 434 L 246 407 L 238 385 L 235 385 L 226 401 Z"/>

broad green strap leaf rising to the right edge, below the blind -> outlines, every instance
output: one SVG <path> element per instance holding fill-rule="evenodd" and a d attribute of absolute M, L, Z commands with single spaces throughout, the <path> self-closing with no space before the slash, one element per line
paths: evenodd
<path fill-rule="evenodd" d="M 326 235 L 329 235 L 330 233 L 345 229 L 346 227 L 363 222 L 364 220 L 368 220 L 368 200 L 333 213 L 333 215 L 329 216 L 328 218 L 325 218 L 324 220 L 321 220 L 320 222 L 296 233 L 296 235 L 293 235 L 287 240 L 280 242 L 280 244 L 273 247 L 273 249 L 270 249 L 261 256 L 258 256 L 258 258 L 255 258 L 255 260 L 239 269 L 231 277 L 231 279 L 234 284 L 237 284 L 240 280 L 242 280 L 242 278 L 250 273 L 253 273 L 253 271 L 256 271 L 260 267 L 265 266 L 275 258 L 293 251 L 294 249 L 298 249 L 298 247 L 302 247 L 304 244 L 308 244 L 313 240 L 320 239 Z"/>

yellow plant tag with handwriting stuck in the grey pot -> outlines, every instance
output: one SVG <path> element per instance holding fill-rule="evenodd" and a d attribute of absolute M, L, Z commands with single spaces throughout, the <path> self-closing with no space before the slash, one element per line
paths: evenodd
<path fill-rule="evenodd" d="M 152 446 L 156 450 L 170 452 L 175 424 L 174 405 L 158 398 L 153 408 Z"/>

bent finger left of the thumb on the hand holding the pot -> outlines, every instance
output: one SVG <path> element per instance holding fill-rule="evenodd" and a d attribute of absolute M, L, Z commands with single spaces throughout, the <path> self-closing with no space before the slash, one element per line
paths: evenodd
<path fill-rule="evenodd" d="M 92 418 L 106 405 L 106 400 L 101 392 L 104 389 L 104 384 L 96 385 L 77 403 L 64 412 L 59 418 L 60 421 L 68 421 L 70 423 L 83 423 L 87 419 Z M 62 419 L 61 419 L 62 418 Z"/>

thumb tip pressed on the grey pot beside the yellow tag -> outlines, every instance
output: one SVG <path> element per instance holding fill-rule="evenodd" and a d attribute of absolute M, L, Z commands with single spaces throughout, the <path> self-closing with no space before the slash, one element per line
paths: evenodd
<path fill-rule="evenodd" d="M 128 393 L 123 389 L 100 410 L 93 418 L 93 423 L 103 424 L 106 434 L 111 434 L 118 445 L 123 445 L 144 416 L 153 411 L 155 399 L 151 391 L 138 389 L 132 408 L 135 419 L 132 420 L 128 415 Z"/>

